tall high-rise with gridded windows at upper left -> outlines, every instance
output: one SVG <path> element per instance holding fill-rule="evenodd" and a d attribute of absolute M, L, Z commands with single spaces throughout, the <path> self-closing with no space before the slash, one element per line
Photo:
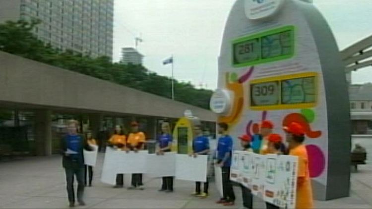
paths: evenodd
<path fill-rule="evenodd" d="M 40 19 L 34 34 L 61 50 L 112 57 L 114 0 L 0 0 L 0 22 Z"/>

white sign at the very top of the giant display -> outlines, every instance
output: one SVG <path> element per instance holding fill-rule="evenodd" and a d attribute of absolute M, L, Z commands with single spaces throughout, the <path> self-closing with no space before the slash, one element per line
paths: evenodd
<path fill-rule="evenodd" d="M 285 0 L 245 0 L 248 19 L 256 20 L 272 16 L 282 7 Z"/>

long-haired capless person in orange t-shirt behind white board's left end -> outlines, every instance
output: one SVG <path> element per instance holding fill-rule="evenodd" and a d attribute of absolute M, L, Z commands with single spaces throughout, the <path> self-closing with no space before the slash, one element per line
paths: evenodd
<path fill-rule="evenodd" d="M 109 146 L 115 149 L 125 151 L 126 150 L 126 137 L 124 135 L 123 126 L 115 126 L 114 135 L 109 139 Z M 124 174 L 117 174 L 115 188 L 124 187 Z"/>

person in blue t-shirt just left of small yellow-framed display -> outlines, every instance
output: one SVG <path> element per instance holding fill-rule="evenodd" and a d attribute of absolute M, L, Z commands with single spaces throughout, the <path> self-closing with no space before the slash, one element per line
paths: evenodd
<path fill-rule="evenodd" d="M 165 152 L 171 152 L 172 135 L 168 122 L 162 123 L 162 134 L 158 137 L 158 152 L 157 155 L 164 155 Z M 173 192 L 173 176 L 165 176 L 162 179 L 162 188 L 159 192 Z"/>

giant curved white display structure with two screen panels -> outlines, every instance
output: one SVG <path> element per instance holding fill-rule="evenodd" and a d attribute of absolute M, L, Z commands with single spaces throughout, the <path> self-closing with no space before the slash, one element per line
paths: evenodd
<path fill-rule="evenodd" d="M 306 128 L 314 197 L 349 195 L 350 108 L 334 37 L 309 0 L 237 0 L 226 23 L 211 109 L 237 140 L 269 119 Z M 235 147 L 239 143 L 235 142 Z"/>

